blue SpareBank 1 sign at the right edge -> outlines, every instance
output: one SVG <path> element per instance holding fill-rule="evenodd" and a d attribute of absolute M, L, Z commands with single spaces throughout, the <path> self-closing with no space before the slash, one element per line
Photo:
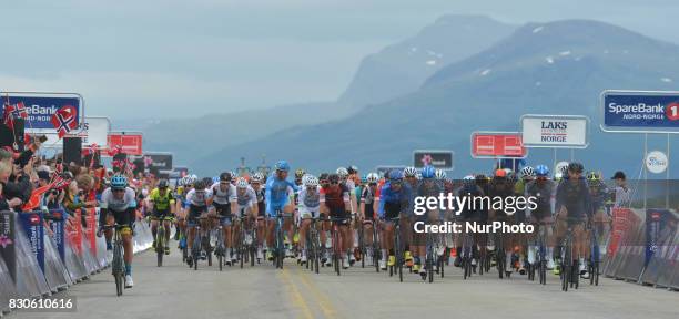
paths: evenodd
<path fill-rule="evenodd" d="M 605 91 L 601 104 L 604 131 L 679 133 L 679 92 Z"/>

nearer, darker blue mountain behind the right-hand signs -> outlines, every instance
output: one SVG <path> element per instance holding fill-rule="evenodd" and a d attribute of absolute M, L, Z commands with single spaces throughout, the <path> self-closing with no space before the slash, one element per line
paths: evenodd
<path fill-rule="evenodd" d="M 196 156 L 190 165 L 200 174 L 215 174 L 234 167 L 241 156 L 255 158 L 266 153 L 272 160 L 285 158 L 293 166 L 312 172 L 348 164 L 372 169 L 381 164 L 412 164 L 413 150 L 443 148 L 456 153 L 455 175 L 487 172 L 488 160 L 473 160 L 468 155 L 469 134 L 518 131 L 523 114 L 538 113 L 591 119 L 590 146 L 575 151 L 575 157 L 588 168 L 607 174 L 620 168 L 638 171 L 642 137 L 600 132 L 599 94 L 606 89 L 676 89 L 679 47 L 588 20 L 506 28 L 511 29 L 508 35 L 489 41 L 478 52 L 449 61 L 438 70 L 425 69 L 430 74 L 424 75 L 422 84 L 412 92 L 403 89 L 392 96 L 356 93 L 356 100 L 343 95 L 340 101 L 358 101 L 364 105 L 353 106 L 356 111 L 342 119 L 310 121 L 312 124 L 231 143 L 210 155 Z M 415 45 L 408 43 L 401 50 L 407 51 L 408 47 Z M 362 68 L 368 60 L 364 60 Z M 352 88 L 362 79 L 365 78 L 357 74 L 347 92 L 361 92 Z M 306 117 L 315 119 L 322 113 L 314 110 Z M 568 153 L 559 153 L 570 158 Z M 551 156 L 550 150 L 534 148 L 528 162 L 551 163 Z"/>

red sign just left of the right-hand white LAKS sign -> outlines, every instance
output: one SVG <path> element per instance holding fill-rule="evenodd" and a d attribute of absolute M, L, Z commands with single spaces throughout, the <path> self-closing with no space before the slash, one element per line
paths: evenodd
<path fill-rule="evenodd" d="M 483 133 L 472 135 L 473 157 L 526 157 L 521 134 Z"/>

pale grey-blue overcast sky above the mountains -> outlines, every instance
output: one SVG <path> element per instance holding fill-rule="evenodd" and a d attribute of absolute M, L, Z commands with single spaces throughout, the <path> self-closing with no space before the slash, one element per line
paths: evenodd
<path fill-rule="evenodd" d="M 107 3 L 1 1 L 0 91 L 79 92 L 87 114 L 112 119 L 330 101 L 363 56 L 446 13 L 598 19 L 679 43 L 676 0 Z"/>

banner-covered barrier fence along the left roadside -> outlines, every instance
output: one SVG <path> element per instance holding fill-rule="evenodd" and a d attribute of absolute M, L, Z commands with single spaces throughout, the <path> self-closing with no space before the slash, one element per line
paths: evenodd
<path fill-rule="evenodd" d="M 82 216 L 84 214 L 84 218 Z M 0 212 L 0 316 L 11 298 L 40 298 L 68 289 L 109 267 L 99 209 Z M 84 225 L 82 224 L 84 220 Z M 151 248 L 151 229 L 134 223 L 134 254 Z"/>

